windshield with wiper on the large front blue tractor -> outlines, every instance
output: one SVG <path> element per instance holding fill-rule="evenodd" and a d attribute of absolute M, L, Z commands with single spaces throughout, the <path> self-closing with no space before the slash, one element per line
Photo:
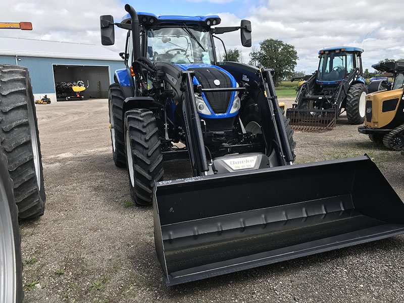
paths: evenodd
<path fill-rule="evenodd" d="M 209 31 L 185 25 L 147 30 L 147 56 L 153 62 L 215 64 Z"/>

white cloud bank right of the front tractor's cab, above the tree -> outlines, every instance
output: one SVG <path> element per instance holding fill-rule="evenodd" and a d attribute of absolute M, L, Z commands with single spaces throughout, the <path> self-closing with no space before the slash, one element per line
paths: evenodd
<path fill-rule="evenodd" d="M 333 4 L 271 0 L 252 7 L 243 18 L 251 21 L 253 44 L 274 38 L 294 45 L 299 57 L 296 70 L 316 70 L 317 54 L 323 47 L 350 45 L 364 46 L 364 67 L 373 71 L 371 65 L 382 59 L 404 58 L 403 10 L 401 0 L 389 1 L 388 5 L 377 0 Z M 240 22 L 234 15 L 218 15 L 222 26 Z M 224 34 L 221 38 L 228 48 L 241 48 L 244 61 L 248 60 L 250 49 L 241 47 L 239 35 Z"/>

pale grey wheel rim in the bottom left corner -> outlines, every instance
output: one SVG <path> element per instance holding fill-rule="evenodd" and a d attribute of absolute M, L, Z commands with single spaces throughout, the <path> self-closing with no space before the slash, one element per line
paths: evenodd
<path fill-rule="evenodd" d="M 15 302 L 17 286 L 13 222 L 6 189 L 0 184 L 0 301 Z"/>

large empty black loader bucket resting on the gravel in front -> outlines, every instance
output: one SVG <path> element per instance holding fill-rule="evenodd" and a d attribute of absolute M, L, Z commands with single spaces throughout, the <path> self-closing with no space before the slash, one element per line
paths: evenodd
<path fill-rule="evenodd" d="M 404 204 L 367 156 L 158 183 L 167 285 L 404 233 Z"/>

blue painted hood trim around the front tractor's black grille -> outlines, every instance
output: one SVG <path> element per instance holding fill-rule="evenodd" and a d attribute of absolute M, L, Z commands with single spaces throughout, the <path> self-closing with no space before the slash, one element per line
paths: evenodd
<path fill-rule="evenodd" d="M 236 87 L 236 85 L 237 85 L 236 79 L 234 79 L 234 77 L 228 71 L 226 71 L 226 70 L 224 70 L 224 69 L 222 69 L 222 68 L 220 68 L 220 67 L 218 67 L 216 65 L 205 64 L 205 63 L 200 63 L 200 64 L 199 63 L 198 64 L 176 64 L 176 65 L 178 67 L 180 67 L 184 71 L 188 70 L 189 68 L 217 68 L 217 69 L 221 70 L 222 72 L 224 72 L 230 78 L 231 87 Z M 198 79 L 196 79 L 196 77 L 193 77 L 192 83 L 194 85 L 199 85 L 200 84 Z M 237 116 L 238 111 L 235 112 L 235 113 L 230 114 L 230 110 L 231 110 L 231 107 L 233 106 L 235 95 L 236 95 L 236 92 L 232 91 L 231 95 L 230 95 L 229 107 L 227 108 L 226 113 L 224 113 L 224 114 L 216 114 L 212 110 L 211 105 L 209 104 L 208 99 L 205 96 L 205 93 L 202 93 L 202 97 L 203 97 L 206 105 L 208 106 L 209 110 L 211 111 L 212 115 L 204 115 L 204 114 L 201 114 L 201 113 L 198 113 L 198 115 L 200 117 L 210 118 L 210 119 L 223 119 L 223 118 L 230 118 L 230 117 Z"/>

